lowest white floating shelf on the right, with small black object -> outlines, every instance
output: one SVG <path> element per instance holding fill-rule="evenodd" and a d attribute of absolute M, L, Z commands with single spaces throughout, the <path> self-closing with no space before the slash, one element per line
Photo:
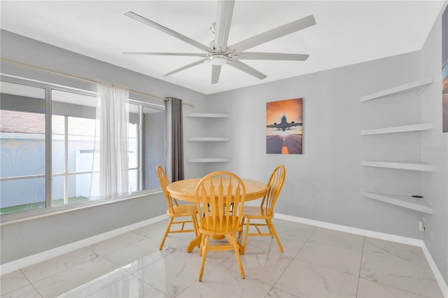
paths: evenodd
<path fill-rule="evenodd" d="M 409 194 L 380 194 L 373 192 L 363 192 L 363 197 L 383 201 L 384 203 L 401 206 L 403 208 L 433 214 L 433 207 L 423 198 L 414 198 Z"/>

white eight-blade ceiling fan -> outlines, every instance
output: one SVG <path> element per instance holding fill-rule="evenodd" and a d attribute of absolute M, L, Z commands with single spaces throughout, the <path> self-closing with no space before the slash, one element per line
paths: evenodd
<path fill-rule="evenodd" d="M 316 24 L 313 15 L 308 15 L 307 17 L 302 17 L 299 20 L 295 20 L 288 24 L 284 24 L 280 27 L 276 27 L 269 31 L 265 31 L 261 34 L 247 38 L 244 41 L 239 41 L 233 45 L 228 45 L 230 23 L 232 22 L 233 8 L 235 6 L 235 0 L 220 0 L 218 1 L 218 14 L 216 17 L 216 22 L 211 24 L 210 29 L 215 34 L 214 41 L 211 41 L 210 45 L 203 45 L 197 41 L 194 41 L 187 36 L 184 36 L 172 29 L 162 26 L 156 22 L 148 20 L 146 17 L 137 15 L 132 11 L 125 13 L 127 17 L 131 17 L 134 20 L 147 24 L 155 29 L 165 32 L 171 36 L 179 38 L 181 41 L 190 43 L 196 48 L 204 51 L 203 53 L 189 53 L 189 52 L 123 52 L 126 55 L 166 55 L 166 56 L 193 56 L 201 57 L 202 59 L 197 62 L 193 62 L 186 66 L 183 66 L 169 73 L 165 73 L 164 76 L 172 75 L 184 69 L 189 69 L 190 67 L 202 64 L 204 62 L 211 62 L 211 83 L 216 84 L 219 80 L 219 75 L 221 73 L 221 66 L 223 64 L 228 64 L 229 66 L 235 67 L 240 71 L 255 76 L 262 80 L 266 78 L 266 75 L 253 69 L 251 66 L 241 62 L 241 60 L 289 60 L 289 61 L 304 61 L 309 55 L 303 54 L 286 54 L 286 53 L 276 53 L 276 52 L 244 52 L 249 48 L 253 48 L 256 45 L 266 43 L 267 41 L 272 41 L 281 36 L 286 36 L 295 31 L 310 27 Z"/>

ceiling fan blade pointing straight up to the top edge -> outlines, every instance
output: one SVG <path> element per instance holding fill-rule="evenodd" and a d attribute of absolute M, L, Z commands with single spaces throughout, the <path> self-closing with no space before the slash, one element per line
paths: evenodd
<path fill-rule="evenodd" d="M 216 17 L 215 47 L 219 52 L 225 52 L 229 39 L 230 23 L 232 22 L 235 0 L 218 1 L 218 15 Z"/>

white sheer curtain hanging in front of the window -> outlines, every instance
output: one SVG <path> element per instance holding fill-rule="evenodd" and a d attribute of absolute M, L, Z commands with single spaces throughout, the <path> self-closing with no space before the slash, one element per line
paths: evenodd
<path fill-rule="evenodd" d="M 97 84 L 97 127 L 90 199 L 111 199 L 130 192 L 127 157 L 129 90 L 107 83 Z"/>

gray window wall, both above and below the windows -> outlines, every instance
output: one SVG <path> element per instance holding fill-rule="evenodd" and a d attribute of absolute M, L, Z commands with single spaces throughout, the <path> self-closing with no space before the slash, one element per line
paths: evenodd
<path fill-rule="evenodd" d="M 160 97 L 178 97 L 200 108 L 206 96 L 184 87 L 172 85 L 162 80 L 144 76 L 127 69 L 107 64 L 90 57 L 79 55 L 62 48 L 41 43 L 8 31 L 0 31 L 1 57 L 27 64 L 45 67 L 74 76 L 105 80 L 120 85 L 129 86 L 132 90 L 155 94 Z M 1 72 L 34 80 L 43 80 L 84 90 L 96 91 L 93 83 L 74 80 L 29 69 L 25 66 L 15 66 L 1 62 Z M 132 94 L 132 98 L 154 104 L 163 104 L 160 99 Z M 195 108 L 184 107 L 185 113 Z M 188 130 L 188 126 L 185 127 Z M 186 175 L 200 176 L 202 170 L 197 167 L 186 166 Z M 67 243 L 79 241 L 95 234 L 132 225 L 166 211 L 163 194 L 151 194 L 138 199 L 114 202 L 106 206 L 97 206 L 78 211 L 71 211 L 60 215 L 51 215 L 38 220 L 19 222 L 1 226 L 1 264 L 18 260 L 22 257 L 41 253 L 45 250 L 57 248 Z M 2 222 L 8 216 L 2 216 Z"/>

